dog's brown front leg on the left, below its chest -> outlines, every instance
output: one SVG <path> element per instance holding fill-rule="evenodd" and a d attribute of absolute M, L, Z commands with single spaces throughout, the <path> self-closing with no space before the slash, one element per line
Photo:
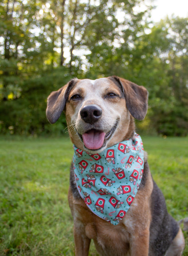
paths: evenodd
<path fill-rule="evenodd" d="M 80 222 L 74 223 L 75 256 L 88 256 L 90 239 L 85 234 L 85 226 Z"/>

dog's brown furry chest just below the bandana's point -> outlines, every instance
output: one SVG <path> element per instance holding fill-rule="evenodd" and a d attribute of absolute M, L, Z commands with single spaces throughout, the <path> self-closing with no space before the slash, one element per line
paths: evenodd
<path fill-rule="evenodd" d="M 101 255 L 121 256 L 122 252 L 124 256 L 130 255 L 131 236 L 140 229 L 140 221 L 134 219 L 134 216 L 137 214 L 136 199 L 127 212 L 127 216 L 116 226 L 103 221 L 103 219 L 97 217 L 93 212 L 88 211 L 83 200 L 80 199 L 76 205 L 80 225 L 84 228 L 86 236 L 94 240 L 95 247 Z"/>

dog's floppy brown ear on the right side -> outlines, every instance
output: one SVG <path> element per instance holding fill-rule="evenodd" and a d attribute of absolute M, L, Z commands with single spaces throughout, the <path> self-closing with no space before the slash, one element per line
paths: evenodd
<path fill-rule="evenodd" d="M 126 106 L 137 120 L 145 118 L 148 107 L 148 91 L 145 87 L 134 84 L 126 79 L 113 76 L 122 85 Z"/>

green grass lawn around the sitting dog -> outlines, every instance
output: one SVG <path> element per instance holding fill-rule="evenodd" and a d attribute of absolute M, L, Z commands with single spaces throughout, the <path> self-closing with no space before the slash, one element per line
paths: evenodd
<path fill-rule="evenodd" d="M 170 214 L 188 217 L 188 138 L 143 137 Z M 0 137 L 0 256 L 73 256 L 68 137 Z M 188 255 L 188 231 L 184 231 Z M 93 243 L 90 256 L 97 256 Z"/>

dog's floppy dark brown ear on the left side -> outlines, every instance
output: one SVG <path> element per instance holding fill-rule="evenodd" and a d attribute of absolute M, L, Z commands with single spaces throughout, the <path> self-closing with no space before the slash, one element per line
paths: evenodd
<path fill-rule="evenodd" d="M 77 80 L 78 79 L 72 79 L 68 84 L 48 96 L 46 115 L 50 123 L 56 123 L 59 119 L 65 108 L 69 93 Z"/>

